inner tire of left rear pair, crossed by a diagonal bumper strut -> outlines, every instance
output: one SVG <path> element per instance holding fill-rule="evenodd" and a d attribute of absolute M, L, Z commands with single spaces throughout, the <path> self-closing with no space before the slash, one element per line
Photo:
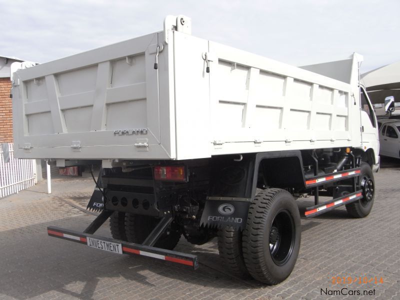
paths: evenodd
<path fill-rule="evenodd" d="M 127 240 L 141 244 L 151 230 L 157 225 L 159 219 L 148 215 L 139 215 L 126 213 L 125 215 L 125 232 Z M 172 223 L 171 226 L 164 232 L 154 247 L 172 250 L 180 239 L 179 228 Z"/>

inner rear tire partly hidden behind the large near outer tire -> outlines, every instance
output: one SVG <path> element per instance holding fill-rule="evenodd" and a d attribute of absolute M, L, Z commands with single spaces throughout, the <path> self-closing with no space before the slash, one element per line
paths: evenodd
<path fill-rule="evenodd" d="M 244 264 L 241 246 L 241 231 L 232 226 L 218 229 L 218 251 L 227 268 L 236 276 L 249 278 L 250 273 Z"/>

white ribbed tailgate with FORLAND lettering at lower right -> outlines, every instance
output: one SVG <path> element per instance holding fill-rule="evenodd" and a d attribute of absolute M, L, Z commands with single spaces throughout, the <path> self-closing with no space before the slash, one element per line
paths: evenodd
<path fill-rule="evenodd" d="M 162 89 L 169 86 L 167 45 L 159 53 L 158 69 L 154 69 L 160 34 L 14 73 L 18 156 L 171 158 L 169 110 L 163 109 L 165 124 L 160 124 L 159 103 L 169 107 L 168 92 L 159 98 L 160 84 Z"/>

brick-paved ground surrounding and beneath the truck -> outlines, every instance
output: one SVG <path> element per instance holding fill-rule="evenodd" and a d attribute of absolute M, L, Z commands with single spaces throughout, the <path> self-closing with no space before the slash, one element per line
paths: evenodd
<path fill-rule="evenodd" d="M 344 208 L 301 220 L 300 254 L 290 277 L 275 286 L 232 277 L 218 259 L 216 240 L 177 250 L 195 253 L 196 271 L 146 257 L 112 255 L 48 237 L 47 225 L 83 229 L 94 218 L 78 209 L 93 188 L 90 178 L 56 178 L 0 199 L 0 300 L 2 299 L 325 299 L 320 289 L 375 289 L 374 296 L 400 298 L 400 163 L 384 159 L 375 174 L 371 214 L 352 219 Z M 61 200 L 69 199 L 70 206 Z M 312 199 L 299 200 L 301 211 Z M 109 236 L 107 225 L 99 233 Z M 377 276 L 381 284 L 332 285 L 332 276 Z"/>

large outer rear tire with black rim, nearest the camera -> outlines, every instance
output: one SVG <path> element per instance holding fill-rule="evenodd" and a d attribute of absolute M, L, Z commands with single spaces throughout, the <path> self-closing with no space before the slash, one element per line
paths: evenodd
<path fill-rule="evenodd" d="M 289 276 L 300 248 L 300 214 L 293 196 L 280 188 L 259 192 L 250 204 L 242 235 L 250 275 L 267 284 Z"/>

